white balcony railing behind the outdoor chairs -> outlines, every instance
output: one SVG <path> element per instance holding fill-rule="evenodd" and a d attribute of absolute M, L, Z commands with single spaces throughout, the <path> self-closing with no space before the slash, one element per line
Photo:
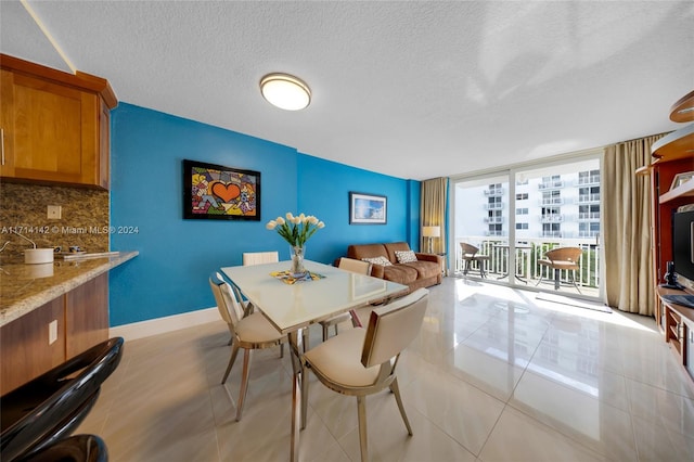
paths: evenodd
<path fill-rule="evenodd" d="M 555 247 L 580 247 L 583 253 L 579 260 L 579 269 L 576 271 L 576 284 L 579 287 L 591 287 L 597 290 L 600 287 L 600 252 L 595 245 L 595 235 L 597 232 L 592 233 L 592 239 L 524 239 L 522 246 L 525 248 L 516 248 L 516 269 L 515 274 L 528 282 L 528 285 L 535 285 L 535 283 L 542 275 L 545 281 L 552 282 L 554 274 L 551 269 L 538 264 L 538 260 L 544 256 L 547 251 Z M 464 269 L 464 261 L 462 259 L 462 252 L 460 242 L 467 242 L 479 247 L 481 255 L 488 255 L 490 258 L 488 261 L 481 262 L 485 265 L 485 272 L 488 274 L 488 279 L 493 281 L 501 277 L 509 275 L 509 240 L 503 236 L 490 236 L 490 235 L 471 235 L 455 239 L 455 255 L 454 272 L 462 273 Z M 479 274 L 478 262 L 473 264 L 473 269 L 467 273 L 468 277 L 475 278 Z M 511 271 L 513 274 L 514 271 Z M 561 270 L 560 281 L 569 284 L 571 281 L 570 271 Z M 595 291 L 596 293 L 596 291 Z"/>

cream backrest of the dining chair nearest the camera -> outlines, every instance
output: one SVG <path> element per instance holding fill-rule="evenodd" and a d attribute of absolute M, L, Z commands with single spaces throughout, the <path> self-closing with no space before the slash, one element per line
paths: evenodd
<path fill-rule="evenodd" d="M 422 328 L 428 293 L 426 288 L 417 288 L 371 312 L 361 351 L 364 368 L 383 364 L 412 343 Z"/>

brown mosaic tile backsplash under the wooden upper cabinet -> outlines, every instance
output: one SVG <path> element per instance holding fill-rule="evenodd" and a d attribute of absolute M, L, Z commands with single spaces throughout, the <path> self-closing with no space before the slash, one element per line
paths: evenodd
<path fill-rule="evenodd" d="M 48 206 L 60 205 L 61 218 L 49 219 Z M 37 247 L 79 246 L 87 252 L 107 252 L 108 191 L 24 183 L 0 183 L 1 256 L 20 258 L 31 244 L 11 230 L 34 241 Z"/>

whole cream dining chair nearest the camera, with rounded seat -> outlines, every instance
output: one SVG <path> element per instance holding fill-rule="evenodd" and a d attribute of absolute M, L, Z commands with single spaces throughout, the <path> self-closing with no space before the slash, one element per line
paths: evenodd
<path fill-rule="evenodd" d="M 412 427 L 402 406 L 395 373 L 400 352 L 420 333 L 428 291 L 419 288 L 388 305 L 376 308 L 367 329 L 351 329 L 306 352 L 306 367 L 333 392 L 357 397 L 361 460 L 369 460 L 367 445 L 367 396 L 389 388 L 400 415 L 412 435 Z M 301 416 L 304 424 L 308 402 L 308 380 L 301 382 Z"/>

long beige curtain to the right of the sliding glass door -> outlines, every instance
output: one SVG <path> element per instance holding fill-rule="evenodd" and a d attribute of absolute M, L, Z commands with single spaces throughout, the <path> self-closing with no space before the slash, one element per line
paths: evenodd
<path fill-rule="evenodd" d="M 661 134 L 613 144 L 603 163 L 603 238 L 607 305 L 653 316 L 651 178 L 637 168 L 651 164 L 651 145 Z"/>

